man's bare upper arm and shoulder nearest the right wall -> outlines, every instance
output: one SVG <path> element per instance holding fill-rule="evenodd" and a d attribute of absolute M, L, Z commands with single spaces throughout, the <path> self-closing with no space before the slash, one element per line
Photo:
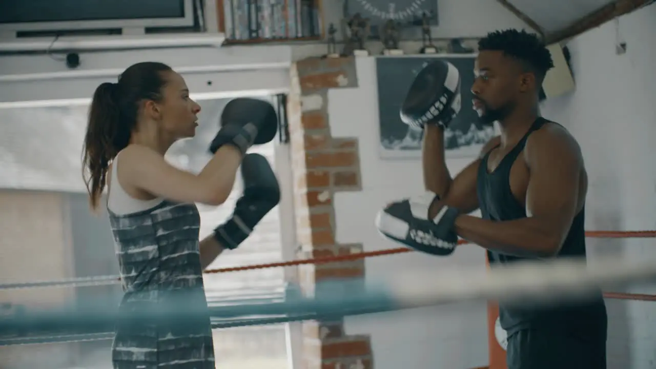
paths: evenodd
<path fill-rule="evenodd" d="M 583 160 L 569 135 L 541 133 L 527 144 L 530 179 L 526 213 L 540 218 L 545 227 L 564 240 L 577 211 Z"/>

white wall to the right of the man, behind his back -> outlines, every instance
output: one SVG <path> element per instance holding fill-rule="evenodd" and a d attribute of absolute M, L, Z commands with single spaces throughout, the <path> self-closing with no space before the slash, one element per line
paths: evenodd
<path fill-rule="evenodd" d="M 588 230 L 656 229 L 654 19 L 650 5 L 573 39 L 576 91 L 543 104 L 543 115 L 581 144 L 590 181 Z M 616 40 L 626 42 L 626 54 L 615 54 Z M 588 239 L 588 250 L 591 257 L 656 260 L 653 239 Z M 624 292 L 656 294 L 656 285 Z M 607 301 L 607 309 L 608 368 L 656 368 L 656 303 Z"/>

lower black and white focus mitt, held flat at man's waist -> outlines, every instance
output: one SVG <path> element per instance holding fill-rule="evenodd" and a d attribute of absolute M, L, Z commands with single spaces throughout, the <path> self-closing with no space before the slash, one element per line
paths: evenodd
<path fill-rule="evenodd" d="M 459 214 L 455 207 L 442 207 L 434 219 L 428 219 L 430 205 L 439 200 L 434 192 L 389 204 L 376 216 L 376 228 L 382 236 L 431 255 L 450 255 L 458 244 L 453 230 Z"/>

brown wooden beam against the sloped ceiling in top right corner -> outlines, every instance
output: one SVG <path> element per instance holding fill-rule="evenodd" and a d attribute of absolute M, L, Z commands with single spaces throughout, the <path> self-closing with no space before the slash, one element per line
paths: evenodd
<path fill-rule="evenodd" d="M 592 28 L 601 26 L 613 18 L 646 7 L 654 1 L 655 0 L 615 0 L 596 11 L 581 17 L 567 28 L 549 33 L 546 36 L 546 43 L 551 45 L 565 39 L 570 39 L 583 32 L 591 30 Z"/>

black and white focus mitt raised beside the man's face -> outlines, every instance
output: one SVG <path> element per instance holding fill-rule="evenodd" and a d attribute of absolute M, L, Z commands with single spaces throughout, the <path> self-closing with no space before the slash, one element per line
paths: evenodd
<path fill-rule="evenodd" d="M 401 105 L 403 123 L 423 129 L 424 124 L 447 127 L 461 108 L 460 73 L 453 64 L 436 60 L 415 77 Z"/>

